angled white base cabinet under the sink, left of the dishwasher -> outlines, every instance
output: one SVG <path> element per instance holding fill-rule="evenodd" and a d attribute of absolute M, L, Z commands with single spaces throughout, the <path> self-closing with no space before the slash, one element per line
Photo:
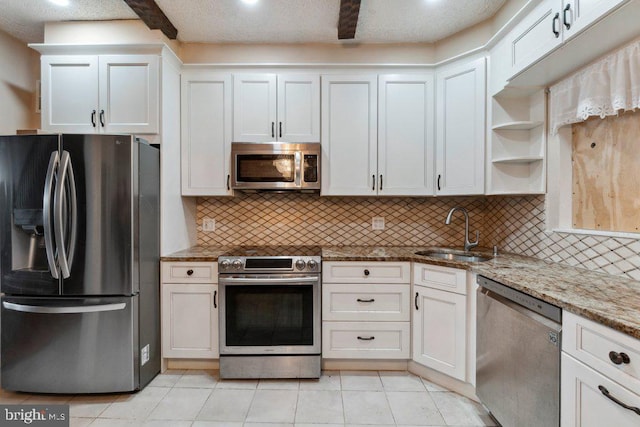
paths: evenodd
<path fill-rule="evenodd" d="M 413 360 L 466 381 L 466 272 L 414 264 L 413 309 Z"/>

